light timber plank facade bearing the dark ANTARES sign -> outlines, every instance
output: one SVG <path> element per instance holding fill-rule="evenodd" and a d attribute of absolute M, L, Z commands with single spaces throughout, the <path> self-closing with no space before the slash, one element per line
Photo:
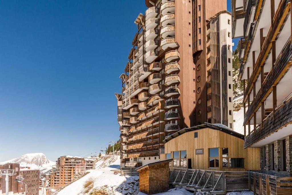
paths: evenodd
<path fill-rule="evenodd" d="M 199 126 L 197 127 L 200 128 Z M 236 132 L 229 130 L 230 132 L 228 133 L 228 131 L 225 132 L 210 127 L 201 127 L 201 129 L 194 129 L 183 133 L 184 130 L 185 129 L 178 131 L 178 136 L 166 138 L 164 140 L 165 154 L 160 154 L 160 160 L 166 159 L 167 153 L 171 153 L 171 158 L 173 158 L 173 151 L 186 150 L 186 159 L 191 159 L 192 162 L 191 165 L 187 164 L 187 167 L 192 167 L 192 169 L 214 171 L 246 171 L 260 169 L 260 149 L 244 149 L 243 136 L 238 137 Z M 196 138 L 194 138 L 194 133 L 197 133 Z M 209 148 L 219 148 L 219 167 L 209 167 Z M 222 148 L 228 148 L 228 158 L 244 158 L 244 168 L 223 167 Z M 202 149 L 203 153 L 196 154 L 197 149 Z M 171 170 L 173 168 L 181 167 L 174 167 L 172 164 Z"/>

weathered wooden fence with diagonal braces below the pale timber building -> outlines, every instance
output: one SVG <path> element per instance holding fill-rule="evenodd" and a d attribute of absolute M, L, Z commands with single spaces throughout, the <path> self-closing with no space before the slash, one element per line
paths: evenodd
<path fill-rule="evenodd" d="M 248 171 L 212 171 L 174 169 L 169 182 L 175 187 L 226 194 L 228 191 L 251 190 L 254 194 L 292 194 L 292 177 L 278 177 Z"/>

